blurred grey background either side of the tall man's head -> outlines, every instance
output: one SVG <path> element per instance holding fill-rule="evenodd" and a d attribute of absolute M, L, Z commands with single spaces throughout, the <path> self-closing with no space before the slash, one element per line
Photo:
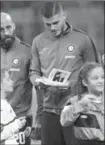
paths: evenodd
<path fill-rule="evenodd" d="M 16 23 L 19 38 L 32 44 L 44 30 L 40 9 L 44 1 L 1 1 L 1 11 L 9 13 Z M 104 53 L 104 1 L 63 1 L 67 19 L 73 27 L 87 32 Z"/>

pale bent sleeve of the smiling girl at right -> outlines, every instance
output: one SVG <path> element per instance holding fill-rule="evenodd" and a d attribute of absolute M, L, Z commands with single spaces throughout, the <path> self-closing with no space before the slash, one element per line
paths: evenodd
<path fill-rule="evenodd" d="M 60 122 L 62 126 L 69 126 L 75 122 L 79 117 L 80 112 L 84 108 L 79 103 L 74 103 L 72 105 L 65 106 L 61 112 Z"/>

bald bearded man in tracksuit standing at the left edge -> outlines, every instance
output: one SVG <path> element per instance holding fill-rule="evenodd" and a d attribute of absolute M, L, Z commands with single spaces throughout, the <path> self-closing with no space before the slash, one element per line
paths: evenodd
<path fill-rule="evenodd" d="M 17 117 L 27 116 L 32 101 L 32 84 L 28 77 L 31 48 L 16 37 L 11 16 L 7 13 L 0 16 L 1 79 L 7 72 L 13 81 L 13 92 L 8 92 L 6 99 Z"/>

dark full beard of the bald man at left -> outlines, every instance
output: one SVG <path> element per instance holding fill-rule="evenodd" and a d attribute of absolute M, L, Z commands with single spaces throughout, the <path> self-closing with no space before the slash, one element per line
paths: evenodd
<path fill-rule="evenodd" d="M 6 35 L 3 39 L 0 40 L 0 45 L 4 50 L 8 51 L 12 47 L 14 40 L 14 35 Z"/>

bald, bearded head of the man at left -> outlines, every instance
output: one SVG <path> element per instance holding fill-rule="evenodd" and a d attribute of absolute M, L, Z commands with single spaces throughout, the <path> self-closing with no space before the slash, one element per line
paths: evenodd
<path fill-rule="evenodd" d="M 0 16 L 0 45 L 3 49 L 9 50 L 15 39 L 15 24 L 9 14 L 1 12 Z"/>

